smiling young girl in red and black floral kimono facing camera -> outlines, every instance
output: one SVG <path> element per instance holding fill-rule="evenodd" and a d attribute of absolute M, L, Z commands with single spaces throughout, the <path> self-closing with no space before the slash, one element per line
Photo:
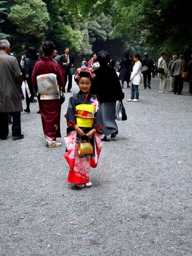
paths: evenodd
<path fill-rule="evenodd" d="M 89 181 L 90 166 L 97 166 L 102 146 L 99 103 L 96 96 L 90 93 L 94 76 L 92 68 L 77 69 L 75 81 L 80 91 L 70 98 L 65 115 L 68 128 L 65 136 L 67 150 L 64 156 L 70 165 L 68 182 L 75 183 L 78 188 L 92 186 Z M 82 155 L 85 145 L 83 142 L 91 143 L 93 153 Z"/>

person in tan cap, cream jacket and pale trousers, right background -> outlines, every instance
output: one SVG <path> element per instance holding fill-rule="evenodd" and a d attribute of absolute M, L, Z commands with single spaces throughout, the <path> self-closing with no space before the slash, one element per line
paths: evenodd
<path fill-rule="evenodd" d="M 165 61 L 165 58 L 167 56 L 166 52 L 161 53 L 161 57 L 158 59 L 157 67 L 164 69 L 164 74 L 158 73 L 158 76 L 160 77 L 160 84 L 159 84 L 159 93 L 167 93 L 166 91 L 166 83 L 167 83 L 167 64 Z"/>

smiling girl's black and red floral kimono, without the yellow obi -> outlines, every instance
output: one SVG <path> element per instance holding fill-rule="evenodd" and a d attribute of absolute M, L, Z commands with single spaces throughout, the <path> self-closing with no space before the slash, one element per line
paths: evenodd
<path fill-rule="evenodd" d="M 102 123 L 99 109 L 93 116 L 92 127 L 80 127 L 78 125 L 85 134 L 90 130 L 95 129 L 97 132 L 94 137 L 89 139 L 87 136 L 81 137 L 77 135 L 73 125 L 76 123 L 78 124 L 77 115 L 79 115 L 79 112 L 76 110 L 76 106 L 81 104 L 97 105 L 98 101 L 95 96 L 89 94 L 88 97 L 86 97 L 86 95 L 81 91 L 73 95 L 69 100 L 68 111 L 65 116 L 68 122 L 68 129 L 67 135 L 65 136 L 67 150 L 64 156 L 70 166 L 68 182 L 76 184 L 89 182 L 90 166 L 93 168 L 97 166 L 102 147 L 101 138 L 103 137 L 100 132 L 100 129 L 102 129 Z M 85 112 L 81 112 L 80 114 L 84 117 L 84 113 Z M 93 154 L 79 156 L 78 150 L 81 141 L 89 141 L 92 144 Z"/>

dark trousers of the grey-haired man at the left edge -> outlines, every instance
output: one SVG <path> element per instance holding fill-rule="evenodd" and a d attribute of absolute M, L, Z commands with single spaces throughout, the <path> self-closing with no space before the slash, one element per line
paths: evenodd
<path fill-rule="evenodd" d="M 21 135 L 20 112 L 11 112 L 13 117 L 12 136 Z M 5 140 L 9 134 L 8 113 L 0 112 L 0 138 Z"/>

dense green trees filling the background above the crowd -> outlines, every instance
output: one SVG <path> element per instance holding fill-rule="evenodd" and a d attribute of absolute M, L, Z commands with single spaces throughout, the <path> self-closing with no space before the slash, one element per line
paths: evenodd
<path fill-rule="evenodd" d="M 157 60 L 162 50 L 192 53 L 190 0 L 9 0 L 0 2 L 0 38 L 20 57 L 29 46 L 40 53 L 45 40 L 59 54 L 71 48 L 82 58 L 107 50 L 115 61 L 125 52 L 145 51 Z"/>

